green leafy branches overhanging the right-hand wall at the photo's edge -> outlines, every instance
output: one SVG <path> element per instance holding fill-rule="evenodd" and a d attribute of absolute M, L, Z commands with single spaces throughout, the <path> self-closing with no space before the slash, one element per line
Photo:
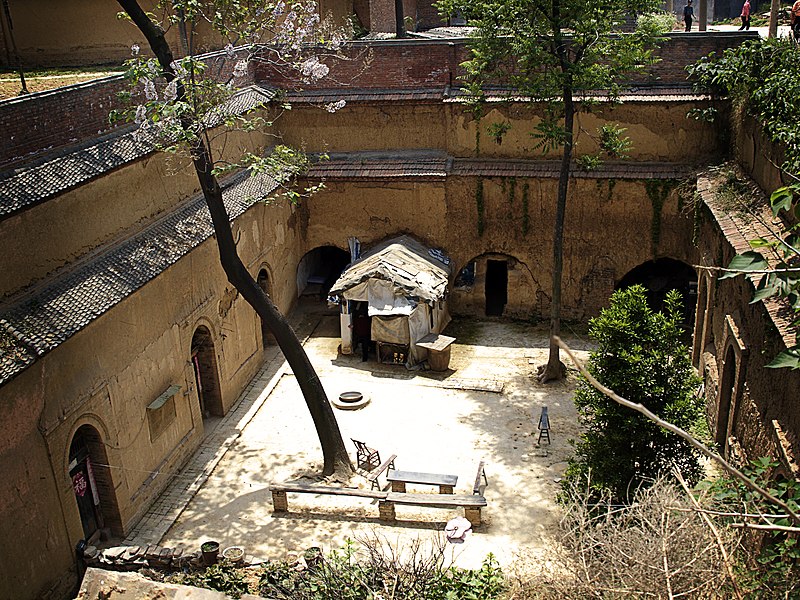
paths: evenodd
<path fill-rule="evenodd" d="M 689 67 L 696 85 L 731 98 L 736 114 L 750 114 L 767 138 L 783 150 L 780 165 L 789 184 L 770 198 L 775 223 L 765 224 L 769 237 L 752 240 L 754 250 L 736 256 L 730 271 L 720 279 L 740 273 L 761 275 L 753 302 L 783 298 L 796 315 L 800 332 L 800 62 L 797 48 L 786 39 L 753 40 L 709 56 Z M 708 110 L 698 116 L 715 115 Z M 800 344 L 778 354 L 768 367 L 800 369 Z"/>

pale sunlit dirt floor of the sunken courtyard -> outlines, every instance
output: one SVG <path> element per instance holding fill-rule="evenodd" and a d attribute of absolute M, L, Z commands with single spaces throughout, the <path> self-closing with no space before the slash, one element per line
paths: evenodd
<path fill-rule="evenodd" d="M 578 434 L 572 403 L 575 370 L 564 382 L 536 383 L 536 365 L 547 357 L 543 326 L 461 319 L 445 333 L 457 341 L 444 373 L 338 354 L 337 314 L 319 316 L 305 348 L 330 398 L 354 390 L 370 399 L 359 410 L 334 409 L 353 459 L 350 438 L 377 448 L 384 458 L 396 454 L 398 469 L 457 475 L 456 494 L 472 492 L 478 463 L 485 461 L 488 507 L 483 524 L 465 543 L 448 545 L 455 564 L 476 568 L 492 552 L 508 565 L 519 551 L 546 561 L 559 519 L 557 480 L 571 454 L 568 440 Z M 565 334 L 585 358 L 585 336 Z M 270 482 L 296 480 L 319 472 L 322 464 L 294 375 L 287 371 L 276 377 L 270 395 L 162 545 L 196 549 L 213 539 L 223 548 L 240 545 L 249 555 L 276 560 L 311 546 L 328 552 L 348 538 L 378 535 L 400 548 L 414 538 L 423 543 L 442 539 L 445 523 L 463 514 L 461 509 L 397 506 L 398 520 L 386 523 L 378 520 L 377 502 L 369 498 L 290 493 L 289 512 L 273 514 Z M 501 386 L 499 392 L 485 391 Z M 549 407 L 552 443 L 538 447 L 542 406 Z M 383 476 L 380 483 L 385 488 Z M 369 488 L 358 476 L 349 485 Z M 408 491 L 437 490 L 410 485 Z"/>

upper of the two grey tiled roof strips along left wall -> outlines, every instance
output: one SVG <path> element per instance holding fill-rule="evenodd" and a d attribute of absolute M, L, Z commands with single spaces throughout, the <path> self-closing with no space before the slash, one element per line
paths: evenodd
<path fill-rule="evenodd" d="M 231 98 L 224 112 L 245 113 L 273 95 L 260 86 L 244 88 Z M 153 138 L 135 134 L 134 127 L 126 127 L 90 145 L 62 149 L 38 164 L 0 174 L 0 219 L 152 152 Z"/>

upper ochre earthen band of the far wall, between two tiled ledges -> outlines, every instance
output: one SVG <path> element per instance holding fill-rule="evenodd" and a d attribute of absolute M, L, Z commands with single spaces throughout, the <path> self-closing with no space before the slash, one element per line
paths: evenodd
<path fill-rule="evenodd" d="M 663 98 L 581 113 L 576 155 L 596 153 L 598 127 L 615 123 L 630 138 L 631 161 L 705 164 L 725 148 L 717 127 L 687 118 L 694 106 L 696 101 Z M 466 158 L 476 156 L 477 145 L 477 156 L 485 159 L 557 159 L 557 153 L 542 154 L 534 148 L 531 132 L 540 119 L 535 108 L 523 104 L 492 108 L 477 121 L 458 103 L 356 99 L 333 114 L 310 101 L 295 103 L 276 120 L 276 126 L 285 142 L 308 152 L 430 149 Z M 354 121 L 358 128 L 351 126 Z M 493 123 L 511 126 L 501 143 L 489 134 Z"/>

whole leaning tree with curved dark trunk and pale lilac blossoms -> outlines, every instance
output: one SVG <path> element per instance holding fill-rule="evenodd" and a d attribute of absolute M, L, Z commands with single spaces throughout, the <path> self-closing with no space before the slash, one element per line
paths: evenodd
<path fill-rule="evenodd" d="M 289 185 L 302 172 L 304 159 L 289 148 L 276 146 L 266 155 L 246 154 L 239 161 L 226 163 L 219 158 L 220 148 L 215 153 L 213 146 L 215 141 L 224 142 L 224 135 L 215 137 L 216 126 L 254 130 L 269 125 L 263 119 L 251 118 L 252 115 L 237 116 L 226 110 L 237 80 L 246 75 L 251 61 L 271 60 L 287 68 L 295 67 L 298 76 L 307 79 L 327 74 L 328 67 L 318 57 L 300 55 L 304 45 L 321 41 L 316 4 L 282 0 L 161 0 L 159 9 L 165 15 L 162 26 L 154 13 L 142 10 L 137 0 L 118 2 L 155 55 L 155 59 L 134 57 L 128 72 L 134 85 L 130 97 L 135 108 L 131 116 L 139 125 L 139 134 L 154 140 L 162 149 L 185 151 L 190 157 L 211 213 L 220 262 L 228 281 L 267 324 L 297 375 L 322 445 L 323 474 L 347 476 L 352 473 L 352 465 L 322 383 L 288 321 L 242 263 L 218 179 L 224 172 L 247 167 L 251 173 L 270 174 L 296 199 L 297 193 Z M 164 27 L 200 21 L 210 24 L 228 40 L 226 64 L 234 64 L 232 72 L 212 68 L 213 65 L 191 55 L 175 59 Z M 259 46 L 263 39 L 270 39 L 271 45 Z M 138 48 L 134 47 L 136 51 Z"/>

